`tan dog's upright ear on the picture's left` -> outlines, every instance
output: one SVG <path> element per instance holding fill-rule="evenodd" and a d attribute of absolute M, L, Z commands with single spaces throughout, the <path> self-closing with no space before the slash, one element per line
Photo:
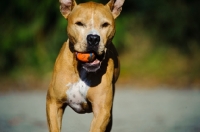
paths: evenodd
<path fill-rule="evenodd" d="M 67 19 L 69 13 L 77 5 L 75 0 L 59 0 L 60 12 Z"/>

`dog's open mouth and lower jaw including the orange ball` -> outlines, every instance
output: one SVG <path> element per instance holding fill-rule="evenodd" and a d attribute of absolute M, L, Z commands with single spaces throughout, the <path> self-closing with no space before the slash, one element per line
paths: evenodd
<path fill-rule="evenodd" d="M 78 53 L 76 58 L 82 63 L 83 68 L 87 72 L 96 72 L 100 69 L 101 61 L 95 53 Z"/>

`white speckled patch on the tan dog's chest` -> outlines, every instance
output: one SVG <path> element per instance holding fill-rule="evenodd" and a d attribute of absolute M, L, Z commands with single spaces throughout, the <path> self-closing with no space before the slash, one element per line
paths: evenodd
<path fill-rule="evenodd" d="M 68 83 L 67 86 L 67 103 L 76 112 L 84 112 L 87 105 L 87 91 L 89 86 L 82 80 L 76 83 Z"/>

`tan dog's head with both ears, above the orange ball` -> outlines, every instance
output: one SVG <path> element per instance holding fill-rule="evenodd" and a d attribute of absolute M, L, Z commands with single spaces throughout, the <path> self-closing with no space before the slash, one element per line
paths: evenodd
<path fill-rule="evenodd" d="M 120 14 L 124 0 L 110 0 L 106 5 L 59 1 L 60 11 L 68 20 L 67 33 L 74 52 L 92 52 L 97 58 L 103 56 L 106 45 L 111 43 L 115 34 L 114 19 Z"/>

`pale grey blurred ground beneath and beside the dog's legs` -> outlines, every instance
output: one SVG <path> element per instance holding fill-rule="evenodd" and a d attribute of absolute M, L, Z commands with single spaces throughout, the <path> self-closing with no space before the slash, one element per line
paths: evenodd
<path fill-rule="evenodd" d="M 0 132 L 47 132 L 45 94 L 0 93 Z M 67 108 L 62 132 L 88 132 L 91 119 Z M 117 89 L 112 132 L 200 132 L 200 91 Z"/>

